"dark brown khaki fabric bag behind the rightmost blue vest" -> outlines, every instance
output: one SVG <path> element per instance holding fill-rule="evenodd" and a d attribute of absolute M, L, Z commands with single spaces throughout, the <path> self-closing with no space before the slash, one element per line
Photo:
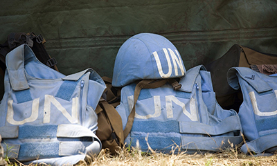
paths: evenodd
<path fill-rule="evenodd" d="M 227 82 L 227 72 L 231 67 L 256 66 L 258 72 L 259 65 L 269 66 L 277 64 L 277 54 L 260 53 L 252 48 L 233 45 L 222 57 L 206 65 L 208 71 L 211 71 L 213 88 L 217 102 L 224 109 L 235 109 L 238 111 L 243 98 L 240 90 L 234 90 Z M 258 67 L 259 66 L 259 67 Z M 261 72 L 260 72 L 261 73 Z"/>

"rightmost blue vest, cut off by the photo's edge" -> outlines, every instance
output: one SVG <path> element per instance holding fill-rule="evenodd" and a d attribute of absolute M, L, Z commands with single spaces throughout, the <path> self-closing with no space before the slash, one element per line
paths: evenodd
<path fill-rule="evenodd" d="M 241 89 L 243 94 L 238 115 L 248 142 L 241 150 L 245 154 L 276 151 L 277 75 L 268 76 L 250 68 L 236 67 L 229 69 L 228 81 L 233 89 Z"/>

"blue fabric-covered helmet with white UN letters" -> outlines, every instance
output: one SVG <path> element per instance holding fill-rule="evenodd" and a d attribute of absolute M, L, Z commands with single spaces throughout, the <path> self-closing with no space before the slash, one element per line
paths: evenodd
<path fill-rule="evenodd" d="M 119 48 L 112 85 L 122 87 L 136 80 L 166 79 L 186 74 L 181 55 L 166 37 L 140 33 Z"/>

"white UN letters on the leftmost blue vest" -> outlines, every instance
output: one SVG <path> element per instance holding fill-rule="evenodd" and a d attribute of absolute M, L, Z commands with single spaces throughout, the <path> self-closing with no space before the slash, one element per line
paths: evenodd
<path fill-rule="evenodd" d="M 57 110 L 62 112 L 62 115 L 69 120 L 69 122 L 71 122 L 72 124 L 76 124 L 79 123 L 79 119 L 78 119 L 78 97 L 73 98 L 72 99 L 72 109 L 71 109 L 71 115 L 68 113 L 68 111 L 66 111 L 66 109 L 64 109 L 64 107 L 62 107 L 62 104 L 60 104 L 60 102 L 58 102 L 53 95 L 45 95 L 44 96 L 45 100 L 44 100 L 44 118 L 43 118 L 43 123 L 49 123 L 50 119 L 51 119 L 51 104 L 53 104 Z M 7 122 L 9 122 L 10 124 L 15 124 L 15 125 L 21 125 L 24 124 L 26 122 L 34 122 L 35 120 L 37 120 L 37 117 L 39 115 L 39 98 L 36 98 L 35 100 L 33 100 L 33 104 L 32 104 L 32 113 L 30 115 L 30 117 L 24 119 L 24 120 L 15 120 L 14 119 L 14 114 L 15 111 L 13 110 L 12 107 L 13 104 L 13 100 L 9 100 L 8 101 L 8 113 L 7 113 Z"/>

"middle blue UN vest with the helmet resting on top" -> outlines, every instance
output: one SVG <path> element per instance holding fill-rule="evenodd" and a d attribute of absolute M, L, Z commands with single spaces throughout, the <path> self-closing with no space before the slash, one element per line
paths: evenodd
<path fill-rule="evenodd" d="M 242 141 L 238 114 L 222 109 L 215 100 L 211 75 L 204 66 L 187 71 L 175 91 L 171 84 L 156 89 L 141 89 L 136 102 L 136 114 L 127 145 L 148 145 L 157 151 L 170 152 L 172 145 L 188 153 L 218 151 Z M 116 107 L 126 127 L 134 105 L 136 83 L 123 86 L 121 102 Z M 147 140 L 145 140 L 147 138 Z M 139 144 L 138 144 L 139 143 Z"/>

